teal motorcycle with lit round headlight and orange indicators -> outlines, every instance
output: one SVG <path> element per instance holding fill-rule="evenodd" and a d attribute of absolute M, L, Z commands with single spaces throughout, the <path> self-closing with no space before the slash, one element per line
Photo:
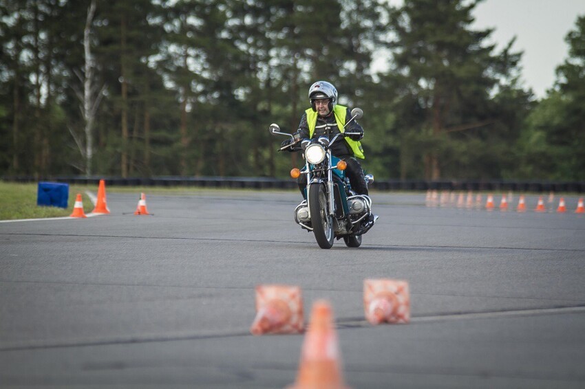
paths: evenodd
<path fill-rule="evenodd" d="M 363 111 L 354 108 L 352 118 L 345 124 L 363 116 Z M 344 126 L 344 128 L 345 128 Z M 321 136 L 312 140 L 301 140 L 298 135 L 280 131 L 278 124 L 270 124 L 272 135 L 286 135 L 292 138 L 287 146 L 279 148 L 284 151 L 304 151 L 305 166 L 302 170 L 293 168 L 290 177 L 297 179 L 301 174 L 307 175 L 304 200 L 295 208 L 295 222 L 308 232 L 315 234 L 315 240 L 322 249 L 330 249 L 334 239 L 343 238 L 348 247 L 359 247 L 362 236 L 378 216 L 372 216 L 372 200 L 365 194 L 352 190 L 349 178 L 345 175 L 347 164 L 331 154 L 330 146 L 339 138 L 356 133 L 338 133 L 331 140 Z M 365 175 L 368 186 L 374 181 L 373 175 Z"/>

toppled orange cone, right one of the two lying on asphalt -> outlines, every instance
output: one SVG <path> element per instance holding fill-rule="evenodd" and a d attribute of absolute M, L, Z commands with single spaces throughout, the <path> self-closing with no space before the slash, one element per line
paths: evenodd
<path fill-rule="evenodd" d="M 370 324 L 410 321 L 408 282 L 403 280 L 364 280 L 363 309 Z"/>

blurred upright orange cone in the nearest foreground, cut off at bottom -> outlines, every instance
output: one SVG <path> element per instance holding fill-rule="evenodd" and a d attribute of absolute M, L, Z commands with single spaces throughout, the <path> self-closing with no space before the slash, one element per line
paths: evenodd
<path fill-rule="evenodd" d="M 341 372 L 341 355 L 330 304 L 313 304 L 310 324 L 301 350 L 297 380 L 288 389 L 347 389 Z"/>

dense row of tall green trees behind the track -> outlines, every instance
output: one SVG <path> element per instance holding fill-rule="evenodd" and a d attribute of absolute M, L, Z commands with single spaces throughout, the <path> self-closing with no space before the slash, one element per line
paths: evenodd
<path fill-rule="evenodd" d="M 0 0 L 0 174 L 84 173 L 90 1 Z M 364 109 L 377 179 L 583 180 L 584 19 L 535 102 L 513 41 L 496 52 L 471 29 L 477 3 L 97 1 L 92 173 L 286 177 L 300 159 L 276 153 L 268 125 L 295 131 L 326 79 Z M 390 69 L 372 74 L 380 53 Z"/>

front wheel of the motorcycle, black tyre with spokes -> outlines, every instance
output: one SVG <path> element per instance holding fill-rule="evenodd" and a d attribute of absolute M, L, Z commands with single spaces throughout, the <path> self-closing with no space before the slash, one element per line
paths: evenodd
<path fill-rule="evenodd" d="M 333 246 L 333 217 L 327 210 L 327 192 L 321 184 L 309 186 L 309 210 L 315 240 L 322 249 Z"/>

